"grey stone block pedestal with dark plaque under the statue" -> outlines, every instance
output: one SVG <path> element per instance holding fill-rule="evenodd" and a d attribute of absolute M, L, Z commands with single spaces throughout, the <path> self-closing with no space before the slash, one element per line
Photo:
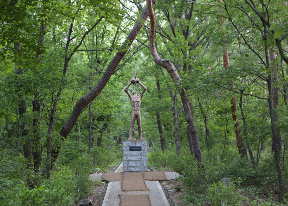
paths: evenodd
<path fill-rule="evenodd" d="M 147 172 L 147 142 L 129 139 L 123 143 L 124 172 Z"/>

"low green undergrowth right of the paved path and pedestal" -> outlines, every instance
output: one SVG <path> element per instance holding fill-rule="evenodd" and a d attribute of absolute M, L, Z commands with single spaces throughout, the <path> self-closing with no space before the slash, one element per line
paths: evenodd
<path fill-rule="evenodd" d="M 216 154 L 216 151 L 215 151 Z M 253 166 L 249 159 L 219 156 L 206 156 L 203 165 L 191 156 L 189 148 L 183 147 L 180 154 L 174 149 L 162 152 L 155 148 L 148 153 L 148 165 L 157 170 L 173 170 L 180 174 L 186 195 L 183 202 L 187 205 L 221 206 L 283 206 L 288 204 L 288 179 L 285 178 L 285 203 L 276 203 L 278 179 L 272 154 L 264 152 L 261 164 Z M 284 177 L 288 177 L 287 162 L 283 163 Z M 222 178 L 230 178 L 226 187 L 220 183 Z"/>

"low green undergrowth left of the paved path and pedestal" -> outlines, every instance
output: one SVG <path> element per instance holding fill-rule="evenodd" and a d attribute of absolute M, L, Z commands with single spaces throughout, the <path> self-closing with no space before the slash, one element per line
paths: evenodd
<path fill-rule="evenodd" d="M 36 174 L 25 167 L 26 159 L 21 153 L 0 151 L 0 205 L 73 206 L 91 191 L 93 181 L 89 174 L 96 167 L 108 170 L 123 157 L 114 146 L 93 147 L 90 152 L 83 151 L 83 157 L 79 152 L 70 152 L 71 146 L 64 143 L 50 180 L 46 179 L 45 164 L 43 173 Z"/>

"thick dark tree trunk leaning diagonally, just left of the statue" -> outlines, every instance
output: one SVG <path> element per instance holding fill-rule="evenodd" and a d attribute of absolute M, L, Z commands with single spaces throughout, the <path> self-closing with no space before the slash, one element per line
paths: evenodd
<path fill-rule="evenodd" d="M 153 4 L 155 1 L 153 1 Z M 105 87 L 106 83 L 110 79 L 112 73 L 120 63 L 120 61 L 123 59 L 127 51 L 129 50 L 130 46 L 132 45 L 132 42 L 135 40 L 136 36 L 140 32 L 141 28 L 143 27 L 143 23 L 148 17 L 148 8 L 147 6 L 144 8 L 141 19 L 134 25 L 133 29 L 131 30 L 130 34 L 128 35 L 125 42 L 122 44 L 121 50 L 117 52 L 117 54 L 114 56 L 110 64 L 108 65 L 107 69 L 105 70 L 103 76 L 98 81 L 96 86 L 87 94 L 82 96 L 75 104 L 74 109 L 72 111 L 72 114 L 69 118 L 69 120 L 66 122 L 66 124 L 63 126 L 63 128 L 60 131 L 60 135 L 63 137 L 62 139 L 66 138 L 69 133 L 71 132 L 73 126 L 75 125 L 81 111 L 90 103 L 92 102 L 102 91 L 102 89 Z M 59 154 L 60 147 L 57 148 L 57 150 L 53 150 L 53 157 L 54 161 L 57 158 Z"/>

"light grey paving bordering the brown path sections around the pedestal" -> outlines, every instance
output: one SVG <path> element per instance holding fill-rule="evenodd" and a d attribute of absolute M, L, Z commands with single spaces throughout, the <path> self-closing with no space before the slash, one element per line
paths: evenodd
<path fill-rule="evenodd" d="M 123 172 L 123 162 L 115 170 L 115 172 Z M 177 179 L 179 174 L 176 172 L 164 172 L 167 180 Z M 100 179 L 102 174 L 92 174 L 90 175 L 91 180 Z M 102 206 L 119 206 L 120 205 L 120 195 L 148 195 L 150 199 L 151 206 L 170 206 L 166 196 L 162 190 L 159 181 L 148 181 L 145 180 L 146 187 L 149 191 L 131 191 L 124 192 L 121 191 L 121 182 L 114 181 L 109 182 L 105 193 Z"/>

